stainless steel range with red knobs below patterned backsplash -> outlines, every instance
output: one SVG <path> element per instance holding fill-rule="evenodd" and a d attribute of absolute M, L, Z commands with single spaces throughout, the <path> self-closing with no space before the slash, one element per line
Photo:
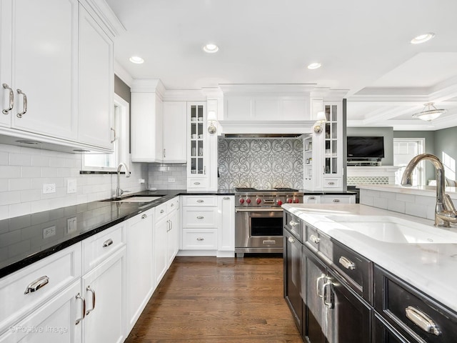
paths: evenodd
<path fill-rule="evenodd" d="M 303 203 L 297 189 L 236 188 L 235 252 L 283 252 L 282 204 Z"/>

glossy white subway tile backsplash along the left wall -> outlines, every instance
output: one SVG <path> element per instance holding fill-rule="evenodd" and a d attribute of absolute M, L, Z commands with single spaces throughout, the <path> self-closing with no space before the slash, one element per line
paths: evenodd
<path fill-rule="evenodd" d="M 79 174 L 81 155 L 0 144 L 0 219 L 83 204 L 114 195 L 116 174 Z M 131 163 L 131 177 L 121 177 L 121 188 L 144 190 L 147 164 Z M 66 193 L 67 179 L 76 179 L 76 193 Z M 56 192 L 43 194 L 43 184 Z"/>

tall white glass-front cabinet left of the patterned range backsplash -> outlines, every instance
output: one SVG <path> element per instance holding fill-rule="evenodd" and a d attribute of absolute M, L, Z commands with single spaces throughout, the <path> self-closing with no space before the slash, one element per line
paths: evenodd
<path fill-rule="evenodd" d="M 187 189 L 206 189 L 206 102 L 187 103 L 188 141 L 187 144 Z"/>

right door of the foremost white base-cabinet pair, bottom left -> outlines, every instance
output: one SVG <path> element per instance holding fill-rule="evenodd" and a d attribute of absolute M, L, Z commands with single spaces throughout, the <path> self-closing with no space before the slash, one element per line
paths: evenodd
<path fill-rule="evenodd" d="M 83 277 L 85 343 L 124 342 L 125 253 L 122 248 Z"/>

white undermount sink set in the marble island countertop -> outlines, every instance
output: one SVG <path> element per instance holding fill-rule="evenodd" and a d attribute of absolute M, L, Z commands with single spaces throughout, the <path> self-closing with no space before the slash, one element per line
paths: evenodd
<path fill-rule="evenodd" d="M 327 216 L 338 229 L 388 243 L 457 243 L 457 233 L 391 216 Z"/>

